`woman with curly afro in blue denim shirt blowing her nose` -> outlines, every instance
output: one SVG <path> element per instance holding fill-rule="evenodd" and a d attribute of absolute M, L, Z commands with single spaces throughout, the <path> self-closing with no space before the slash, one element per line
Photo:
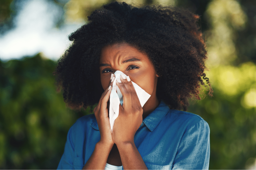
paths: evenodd
<path fill-rule="evenodd" d="M 69 36 L 55 75 L 69 107 L 98 105 L 69 129 L 58 169 L 208 169 L 209 126 L 185 112 L 189 98 L 200 99 L 203 80 L 212 93 L 199 16 L 114 2 L 88 20 Z M 111 132 L 117 70 L 125 74 L 116 81 L 123 105 Z M 143 107 L 131 81 L 151 95 Z"/>

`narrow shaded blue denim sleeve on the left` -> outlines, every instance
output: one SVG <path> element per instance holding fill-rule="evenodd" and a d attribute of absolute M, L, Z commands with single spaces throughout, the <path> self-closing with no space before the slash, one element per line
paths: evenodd
<path fill-rule="evenodd" d="M 73 160 L 74 160 L 74 152 L 75 145 L 74 142 L 76 139 L 76 131 L 78 126 L 78 120 L 71 126 L 67 134 L 67 141 L 64 148 L 64 153 L 61 157 L 59 165 L 57 169 L 74 169 Z"/>

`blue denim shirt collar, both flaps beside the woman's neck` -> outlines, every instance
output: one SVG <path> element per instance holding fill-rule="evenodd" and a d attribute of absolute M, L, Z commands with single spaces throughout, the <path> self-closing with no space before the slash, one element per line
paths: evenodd
<path fill-rule="evenodd" d="M 163 101 L 160 101 L 158 107 L 153 112 L 151 112 L 142 122 L 152 132 L 160 123 L 162 118 L 168 113 L 168 111 L 169 107 Z M 141 123 L 141 126 L 143 123 Z M 93 120 L 90 123 L 90 126 L 96 130 L 99 130 L 95 116 L 93 116 Z"/>

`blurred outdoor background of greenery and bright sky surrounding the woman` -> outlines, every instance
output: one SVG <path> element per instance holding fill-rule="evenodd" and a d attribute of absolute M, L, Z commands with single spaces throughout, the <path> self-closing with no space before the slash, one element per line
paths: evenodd
<path fill-rule="evenodd" d="M 189 8 L 201 16 L 213 97 L 189 112 L 210 126 L 209 169 L 256 169 L 256 1 L 124 0 Z M 67 132 L 93 113 L 68 109 L 56 92 L 68 35 L 110 0 L 0 1 L 0 169 L 56 169 Z M 207 90 L 205 90 L 207 94 Z"/>

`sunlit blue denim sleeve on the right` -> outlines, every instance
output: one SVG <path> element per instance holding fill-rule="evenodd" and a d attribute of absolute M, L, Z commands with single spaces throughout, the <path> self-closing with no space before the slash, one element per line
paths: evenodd
<path fill-rule="evenodd" d="M 188 128 L 178 147 L 173 169 L 208 169 L 210 160 L 210 128 L 200 120 Z"/>

